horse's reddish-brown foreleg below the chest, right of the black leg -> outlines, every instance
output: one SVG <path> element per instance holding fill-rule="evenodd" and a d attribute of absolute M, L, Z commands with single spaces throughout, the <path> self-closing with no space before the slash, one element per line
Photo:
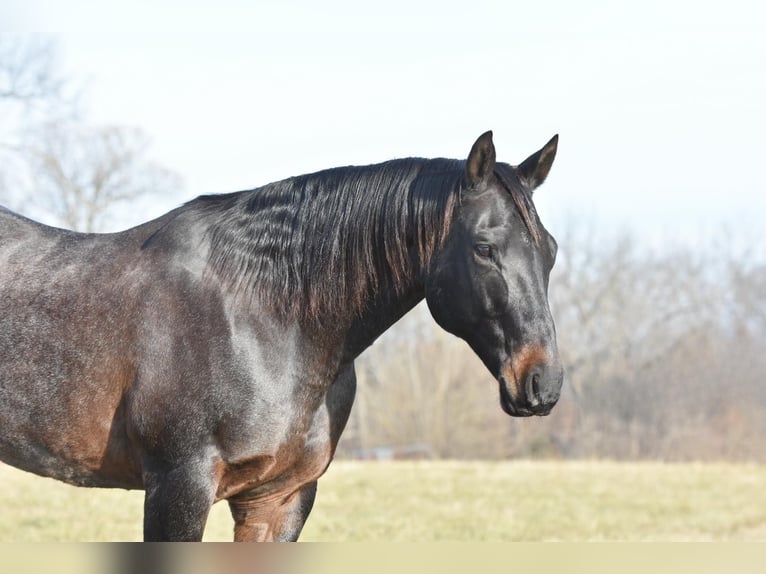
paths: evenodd
<path fill-rule="evenodd" d="M 286 499 L 242 493 L 229 499 L 236 542 L 294 542 L 303 529 L 316 497 L 316 482 Z"/>

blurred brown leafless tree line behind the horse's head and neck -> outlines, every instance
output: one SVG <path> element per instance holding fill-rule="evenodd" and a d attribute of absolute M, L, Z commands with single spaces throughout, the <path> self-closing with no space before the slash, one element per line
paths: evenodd
<path fill-rule="evenodd" d="M 652 251 L 573 220 L 557 234 L 550 302 L 566 378 L 552 414 L 505 415 L 494 379 L 421 305 L 358 361 L 340 455 L 419 444 L 465 459 L 766 460 L 755 243 L 721 232 Z"/>

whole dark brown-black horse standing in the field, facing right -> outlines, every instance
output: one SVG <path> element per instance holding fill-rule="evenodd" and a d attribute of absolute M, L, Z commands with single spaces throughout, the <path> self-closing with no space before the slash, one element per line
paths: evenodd
<path fill-rule="evenodd" d="M 114 234 L 0 208 L 0 459 L 70 484 L 144 489 L 145 540 L 295 540 L 354 399 L 354 359 L 424 297 L 547 415 L 562 368 L 556 243 L 492 133 L 466 161 L 402 159 L 199 197 Z"/>

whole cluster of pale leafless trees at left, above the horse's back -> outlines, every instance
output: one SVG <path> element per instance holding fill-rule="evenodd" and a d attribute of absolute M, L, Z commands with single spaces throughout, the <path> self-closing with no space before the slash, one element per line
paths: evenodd
<path fill-rule="evenodd" d="M 79 231 L 102 231 L 115 210 L 179 178 L 150 161 L 139 129 L 90 127 L 44 38 L 0 37 L 0 202 Z"/>

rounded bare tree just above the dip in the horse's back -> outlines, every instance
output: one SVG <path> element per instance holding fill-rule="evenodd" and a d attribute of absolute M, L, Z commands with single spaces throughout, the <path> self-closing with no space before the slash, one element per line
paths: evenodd
<path fill-rule="evenodd" d="M 136 128 L 56 123 L 30 140 L 23 147 L 29 202 L 70 229 L 103 231 L 119 207 L 180 186 L 178 176 L 148 159 L 148 138 Z"/>

